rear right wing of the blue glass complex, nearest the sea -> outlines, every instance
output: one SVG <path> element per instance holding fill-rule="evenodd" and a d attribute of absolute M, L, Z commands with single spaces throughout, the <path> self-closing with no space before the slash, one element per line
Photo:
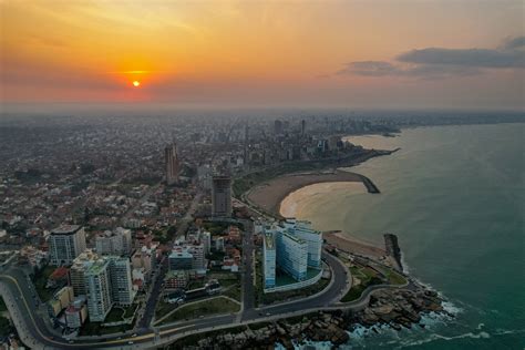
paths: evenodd
<path fill-rule="evenodd" d="M 322 234 L 311 227 L 310 222 L 287 218 L 284 223 L 287 231 L 308 244 L 308 266 L 321 266 Z"/>

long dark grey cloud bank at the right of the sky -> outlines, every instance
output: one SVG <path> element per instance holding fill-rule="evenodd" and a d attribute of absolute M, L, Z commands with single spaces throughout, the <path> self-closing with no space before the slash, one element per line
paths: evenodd
<path fill-rule="evenodd" d="M 500 49 L 426 48 L 401 53 L 394 62 L 350 62 L 336 74 L 441 79 L 480 74 L 486 69 L 524 69 L 524 48 L 525 37 L 507 40 Z"/>

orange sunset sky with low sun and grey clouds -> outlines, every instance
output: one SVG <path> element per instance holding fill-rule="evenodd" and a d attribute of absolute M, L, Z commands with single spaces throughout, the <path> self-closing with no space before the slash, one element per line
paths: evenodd
<path fill-rule="evenodd" d="M 0 0 L 0 101 L 523 110 L 524 13 L 506 0 Z"/>

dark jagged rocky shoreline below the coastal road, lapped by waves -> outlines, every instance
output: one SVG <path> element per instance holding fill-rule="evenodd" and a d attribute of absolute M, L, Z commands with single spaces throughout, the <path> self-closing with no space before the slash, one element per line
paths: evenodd
<path fill-rule="evenodd" d="M 250 325 L 234 332 L 203 334 L 196 343 L 184 343 L 183 340 L 171 349 L 272 349 L 276 343 L 294 349 L 294 344 L 306 341 L 330 341 L 338 348 L 351 343 L 349 331 L 359 325 L 372 329 L 381 325 L 397 330 L 414 326 L 424 328 L 421 318 L 431 312 L 453 316 L 443 309 L 443 299 L 437 292 L 421 285 L 415 290 L 381 289 L 375 290 L 359 311 L 341 305 L 340 309 Z"/>

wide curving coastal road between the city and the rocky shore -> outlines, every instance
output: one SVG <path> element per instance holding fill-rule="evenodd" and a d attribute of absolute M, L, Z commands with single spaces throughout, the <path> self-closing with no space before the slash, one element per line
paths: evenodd
<path fill-rule="evenodd" d="M 31 307 L 31 290 L 27 281 L 2 274 L 0 275 L 0 294 L 8 305 L 8 309 L 14 319 L 17 329 L 22 340 L 33 349 L 150 349 L 171 343 L 185 336 L 200 333 L 209 330 L 227 329 L 230 327 L 248 325 L 261 321 L 274 321 L 280 318 L 303 315 L 317 310 L 329 310 L 338 308 L 362 308 L 370 298 L 366 291 L 360 300 L 350 305 L 337 305 L 341 294 L 346 290 L 348 271 L 346 267 L 334 257 L 323 254 L 327 264 L 332 269 L 333 279 L 322 292 L 308 299 L 300 299 L 287 303 L 264 307 L 261 309 L 245 309 L 243 320 L 238 315 L 220 315 L 202 319 L 193 319 L 183 322 L 166 325 L 145 330 L 136 337 L 126 334 L 109 336 L 106 339 L 93 337 L 92 339 L 76 339 L 74 343 L 56 337 L 45 325 L 41 316 Z M 375 287 L 375 286 L 374 286 Z M 377 286 L 379 288 L 388 288 Z M 269 315 L 268 315 L 269 313 Z M 122 338 L 122 339 L 120 339 Z"/>

